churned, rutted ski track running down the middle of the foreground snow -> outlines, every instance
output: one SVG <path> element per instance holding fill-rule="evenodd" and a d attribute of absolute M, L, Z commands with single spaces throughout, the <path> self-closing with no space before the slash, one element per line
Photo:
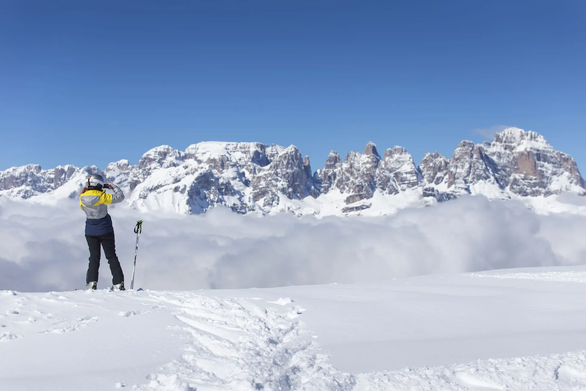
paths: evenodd
<path fill-rule="evenodd" d="M 147 300 L 175 308 L 189 344 L 136 390 L 350 391 L 355 384 L 305 338 L 297 314 L 188 292 L 154 293 Z"/>

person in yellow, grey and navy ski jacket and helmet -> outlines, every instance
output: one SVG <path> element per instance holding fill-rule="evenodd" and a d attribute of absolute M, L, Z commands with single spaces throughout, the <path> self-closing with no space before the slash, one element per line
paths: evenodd
<path fill-rule="evenodd" d="M 114 227 L 108 214 L 108 205 L 124 200 L 124 193 L 114 183 L 104 184 L 101 175 L 93 174 L 87 178 L 86 187 L 79 196 L 81 210 L 86 212 L 86 240 L 90 249 L 90 264 L 86 274 L 86 289 L 96 289 L 100 268 L 100 245 L 110 265 L 113 290 L 124 290 L 124 274 L 116 256 Z M 114 194 L 106 193 L 104 188 L 112 189 Z"/>

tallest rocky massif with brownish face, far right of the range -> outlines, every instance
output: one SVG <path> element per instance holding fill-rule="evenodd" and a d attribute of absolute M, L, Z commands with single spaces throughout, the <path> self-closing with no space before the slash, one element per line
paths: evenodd
<path fill-rule="evenodd" d="M 518 128 L 496 134 L 492 142 L 462 141 L 449 161 L 425 155 L 420 169 L 426 193 L 440 200 L 464 193 L 490 198 L 586 194 L 573 158 L 555 151 L 536 132 Z"/>

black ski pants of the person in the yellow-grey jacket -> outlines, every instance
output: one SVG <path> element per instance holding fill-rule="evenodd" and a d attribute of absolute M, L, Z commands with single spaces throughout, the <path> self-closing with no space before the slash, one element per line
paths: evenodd
<path fill-rule="evenodd" d="M 124 281 L 122 267 L 120 267 L 120 261 L 118 261 L 118 257 L 116 256 L 114 231 L 99 236 L 86 235 L 86 240 L 87 246 L 90 248 L 90 265 L 87 268 L 86 283 L 90 283 L 91 281 L 98 282 L 98 270 L 100 269 L 101 255 L 100 244 L 104 249 L 104 255 L 110 265 L 112 283 L 117 285 Z"/>

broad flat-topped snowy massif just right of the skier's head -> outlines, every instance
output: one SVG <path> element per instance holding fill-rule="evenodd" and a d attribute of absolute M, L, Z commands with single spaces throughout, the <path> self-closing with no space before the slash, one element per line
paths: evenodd
<path fill-rule="evenodd" d="M 163 145 L 145 153 L 136 166 L 121 161 L 105 173 L 127 186 L 131 202 L 144 209 L 202 213 L 227 206 L 237 213 L 269 212 L 281 197 L 319 196 L 309 157 L 293 145 L 200 142 L 185 152 Z"/>

